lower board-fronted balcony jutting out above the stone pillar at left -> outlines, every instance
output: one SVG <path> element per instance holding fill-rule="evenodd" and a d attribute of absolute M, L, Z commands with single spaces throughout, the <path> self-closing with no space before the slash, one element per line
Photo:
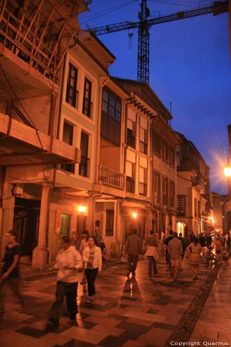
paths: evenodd
<path fill-rule="evenodd" d="M 80 150 L 0 113 L 0 162 L 17 167 L 80 162 Z"/>

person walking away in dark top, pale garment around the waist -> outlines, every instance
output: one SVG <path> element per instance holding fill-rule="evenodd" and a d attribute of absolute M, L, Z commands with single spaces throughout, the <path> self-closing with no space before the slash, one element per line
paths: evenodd
<path fill-rule="evenodd" d="M 157 274 L 156 261 L 160 257 L 158 251 L 158 242 L 153 230 L 150 230 L 150 235 L 144 242 L 144 246 L 146 247 L 145 257 L 148 257 L 148 277 L 151 278 L 152 273 L 154 275 Z"/>

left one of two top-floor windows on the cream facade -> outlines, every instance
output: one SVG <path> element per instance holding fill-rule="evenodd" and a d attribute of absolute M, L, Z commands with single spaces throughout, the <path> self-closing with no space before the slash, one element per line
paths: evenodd
<path fill-rule="evenodd" d="M 78 106 L 78 90 L 77 87 L 78 69 L 69 63 L 69 73 L 67 78 L 66 101 L 74 108 Z"/>

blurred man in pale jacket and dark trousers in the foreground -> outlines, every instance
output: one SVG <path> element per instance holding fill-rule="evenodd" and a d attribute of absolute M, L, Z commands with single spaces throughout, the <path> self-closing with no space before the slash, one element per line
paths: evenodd
<path fill-rule="evenodd" d="M 71 320 L 76 320 L 77 289 L 78 289 L 78 270 L 83 268 L 82 257 L 71 246 L 71 240 L 68 236 L 63 236 L 60 240 L 61 249 L 55 260 L 55 269 L 58 269 L 55 303 L 51 306 L 49 312 L 49 322 L 46 324 L 46 330 L 55 330 L 58 328 L 60 316 L 62 314 L 63 301 L 66 298 L 67 311 Z"/>

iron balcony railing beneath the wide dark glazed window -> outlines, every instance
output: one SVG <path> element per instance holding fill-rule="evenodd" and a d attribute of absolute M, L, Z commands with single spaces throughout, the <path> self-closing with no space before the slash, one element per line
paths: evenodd
<path fill-rule="evenodd" d="M 108 167 L 99 167 L 99 181 L 108 187 L 123 190 L 125 187 L 125 178 L 123 174 L 109 169 Z"/>

